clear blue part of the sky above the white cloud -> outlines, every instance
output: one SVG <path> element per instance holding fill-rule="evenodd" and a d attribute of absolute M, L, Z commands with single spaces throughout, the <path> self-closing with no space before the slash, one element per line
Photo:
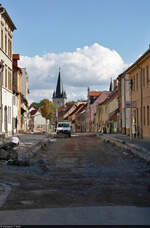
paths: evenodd
<path fill-rule="evenodd" d="M 150 43 L 150 0 L 1 0 L 1 4 L 17 27 L 14 52 L 32 61 L 35 56 L 73 53 L 97 43 L 130 64 Z M 67 78 L 64 82 L 67 85 Z"/>

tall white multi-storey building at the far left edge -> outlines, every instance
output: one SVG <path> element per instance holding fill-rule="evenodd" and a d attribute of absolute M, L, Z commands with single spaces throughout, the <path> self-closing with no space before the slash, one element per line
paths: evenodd
<path fill-rule="evenodd" d="M 16 29 L 5 8 L 0 5 L 0 133 L 12 134 L 12 37 Z"/>

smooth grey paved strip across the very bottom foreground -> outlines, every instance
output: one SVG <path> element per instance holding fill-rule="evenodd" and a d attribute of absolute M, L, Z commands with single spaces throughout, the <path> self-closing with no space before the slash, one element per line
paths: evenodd
<path fill-rule="evenodd" d="M 0 211 L 1 225 L 149 225 L 150 208 L 100 206 Z"/>

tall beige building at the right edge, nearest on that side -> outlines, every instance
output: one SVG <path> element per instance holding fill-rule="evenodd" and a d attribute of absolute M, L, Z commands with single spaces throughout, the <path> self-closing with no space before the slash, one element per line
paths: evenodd
<path fill-rule="evenodd" d="M 118 80 L 122 132 L 150 137 L 150 49 L 119 75 Z"/>

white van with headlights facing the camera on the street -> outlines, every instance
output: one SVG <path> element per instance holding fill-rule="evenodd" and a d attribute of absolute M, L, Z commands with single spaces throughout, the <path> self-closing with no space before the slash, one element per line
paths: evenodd
<path fill-rule="evenodd" d="M 57 128 L 56 128 L 56 134 L 67 134 L 69 137 L 71 137 L 71 127 L 68 122 L 58 122 Z"/>

